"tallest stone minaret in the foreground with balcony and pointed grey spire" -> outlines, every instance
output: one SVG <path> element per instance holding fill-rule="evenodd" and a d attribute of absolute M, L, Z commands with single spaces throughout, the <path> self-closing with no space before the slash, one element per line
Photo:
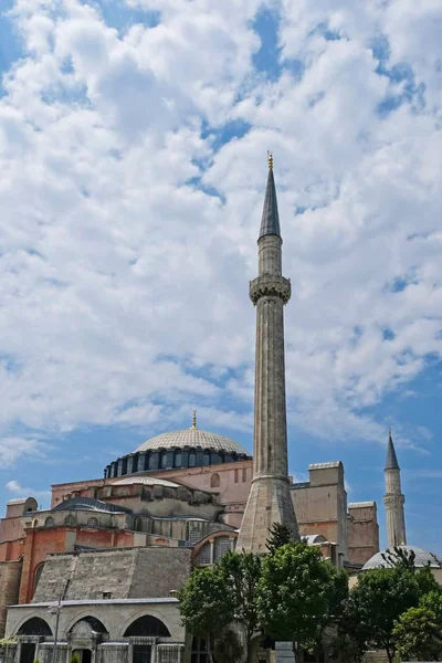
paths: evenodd
<path fill-rule="evenodd" d="M 282 276 L 282 243 L 273 157 L 257 240 L 259 276 L 250 283 L 256 306 L 255 423 L 253 480 L 236 549 L 266 551 L 273 523 L 286 525 L 298 538 L 288 487 L 285 409 L 284 304 L 291 283 Z"/>

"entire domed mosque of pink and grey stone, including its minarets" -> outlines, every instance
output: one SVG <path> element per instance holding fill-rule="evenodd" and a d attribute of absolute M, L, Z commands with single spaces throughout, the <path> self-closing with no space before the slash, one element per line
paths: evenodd
<path fill-rule="evenodd" d="M 208 663 L 180 622 L 177 591 L 192 568 L 234 548 L 265 552 L 284 523 L 349 575 L 385 565 L 375 502 L 347 504 L 343 463 L 287 469 L 282 236 L 270 159 L 259 238 L 253 457 L 189 428 L 109 462 L 104 477 L 52 486 L 51 506 L 13 499 L 0 519 L 0 636 L 6 663 Z M 404 497 L 391 433 L 385 470 L 389 546 L 406 545 Z M 439 560 L 414 548 L 418 564 Z M 442 579 L 441 579 L 442 581 Z M 270 653 L 260 654 L 271 661 Z M 1 654 L 0 654 L 1 660 Z"/>

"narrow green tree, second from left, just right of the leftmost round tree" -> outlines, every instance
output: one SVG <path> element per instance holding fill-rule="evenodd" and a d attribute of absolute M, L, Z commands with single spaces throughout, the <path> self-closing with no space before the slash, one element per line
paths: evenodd
<path fill-rule="evenodd" d="M 245 660 L 250 663 L 252 639 L 260 624 L 256 598 L 261 579 L 261 557 L 252 552 L 227 552 L 218 566 L 234 597 L 234 621 L 243 629 Z"/>

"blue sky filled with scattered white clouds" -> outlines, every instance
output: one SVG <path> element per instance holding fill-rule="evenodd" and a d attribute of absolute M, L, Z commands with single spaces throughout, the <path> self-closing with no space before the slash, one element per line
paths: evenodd
<path fill-rule="evenodd" d="M 291 473 L 442 552 L 440 0 L 7 0 L 0 504 L 191 425 L 253 445 L 274 154 Z M 1 507 L 0 507 L 1 511 Z"/>

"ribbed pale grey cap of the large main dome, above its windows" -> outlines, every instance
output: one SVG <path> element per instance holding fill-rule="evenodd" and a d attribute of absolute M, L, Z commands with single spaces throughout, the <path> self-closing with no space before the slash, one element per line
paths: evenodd
<path fill-rule="evenodd" d="M 239 455 L 250 456 L 250 453 L 234 442 L 230 438 L 202 431 L 199 428 L 192 427 L 179 431 L 170 431 L 156 435 L 146 442 L 143 442 L 136 450 L 139 451 L 156 451 L 160 449 L 211 449 L 212 451 L 223 451 L 225 453 L 236 453 Z"/>

